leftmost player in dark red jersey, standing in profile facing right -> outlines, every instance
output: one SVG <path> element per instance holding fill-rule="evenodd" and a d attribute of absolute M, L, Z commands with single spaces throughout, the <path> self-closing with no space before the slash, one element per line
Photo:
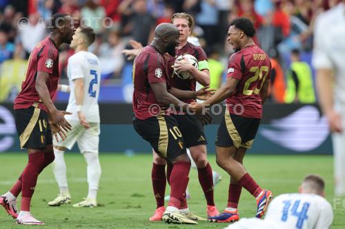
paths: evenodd
<path fill-rule="evenodd" d="M 68 14 L 54 14 L 50 19 L 50 35 L 34 47 L 28 61 L 26 78 L 21 92 L 14 100 L 14 118 L 21 149 L 28 150 L 28 164 L 17 182 L 0 197 L 0 204 L 19 224 L 44 224 L 30 214 L 30 202 L 37 177 L 54 161 L 52 132 L 61 138 L 70 130 L 64 118 L 52 103 L 59 80 L 59 51 L 62 43 L 70 43 L 75 29 Z M 17 213 L 17 196 L 21 193 L 21 211 Z"/>

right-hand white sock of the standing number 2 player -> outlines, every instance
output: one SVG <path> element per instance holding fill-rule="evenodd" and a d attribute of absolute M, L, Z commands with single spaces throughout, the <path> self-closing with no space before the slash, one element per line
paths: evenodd
<path fill-rule="evenodd" d="M 98 153 L 86 152 L 83 154 L 88 164 L 88 198 L 96 199 L 101 177 L 101 165 L 99 164 Z"/>

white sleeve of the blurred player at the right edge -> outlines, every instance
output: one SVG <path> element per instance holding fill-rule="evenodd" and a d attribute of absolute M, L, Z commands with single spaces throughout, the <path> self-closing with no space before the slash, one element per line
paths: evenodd
<path fill-rule="evenodd" d="M 328 53 L 329 49 L 327 48 L 330 42 L 329 35 L 322 30 L 324 24 L 322 16 L 321 14 L 315 23 L 312 64 L 315 69 L 333 69 L 333 64 Z"/>

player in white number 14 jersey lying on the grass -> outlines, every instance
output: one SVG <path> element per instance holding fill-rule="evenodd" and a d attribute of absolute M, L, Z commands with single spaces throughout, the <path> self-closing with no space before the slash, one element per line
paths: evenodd
<path fill-rule="evenodd" d="M 332 206 L 324 199 L 324 180 L 308 175 L 299 193 L 273 199 L 264 220 L 243 218 L 226 229 L 328 229 L 332 221 Z"/>

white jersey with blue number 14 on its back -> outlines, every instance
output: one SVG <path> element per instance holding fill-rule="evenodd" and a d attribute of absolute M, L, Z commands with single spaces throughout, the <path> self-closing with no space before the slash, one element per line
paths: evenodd
<path fill-rule="evenodd" d="M 333 210 L 319 195 L 283 194 L 270 203 L 264 221 L 274 222 L 279 229 L 328 229 L 333 221 Z"/>

